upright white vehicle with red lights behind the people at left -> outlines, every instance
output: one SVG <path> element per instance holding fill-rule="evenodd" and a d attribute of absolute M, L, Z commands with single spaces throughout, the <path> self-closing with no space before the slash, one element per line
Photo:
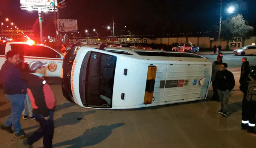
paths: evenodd
<path fill-rule="evenodd" d="M 6 53 L 10 50 L 18 51 L 24 56 L 24 62 L 30 64 L 32 61 L 48 62 L 46 77 L 60 77 L 63 55 L 44 44 L 35 43 L 33 40 L 27 42 L 7 42 L 0 47 L 0 67 L 6 60 Z"/>

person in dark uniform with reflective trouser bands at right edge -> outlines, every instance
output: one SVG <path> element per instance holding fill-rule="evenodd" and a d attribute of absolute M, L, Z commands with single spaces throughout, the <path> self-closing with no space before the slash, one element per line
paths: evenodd
<path fill-rule="evenodd" d="M 241 129 L 256 134 L 256 65 L 251 67 L 250 75 L 244 83 L 241 83 L 240 90 L 244 93 Z"/>

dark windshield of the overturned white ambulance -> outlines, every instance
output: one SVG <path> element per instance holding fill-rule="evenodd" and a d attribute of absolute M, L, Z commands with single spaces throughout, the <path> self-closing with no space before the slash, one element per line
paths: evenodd
<path fill-rule="evenodd" d="M 116 56 L 92 52 L 86 70 L 86 103 L 91 107 L 112 106 Z"/>

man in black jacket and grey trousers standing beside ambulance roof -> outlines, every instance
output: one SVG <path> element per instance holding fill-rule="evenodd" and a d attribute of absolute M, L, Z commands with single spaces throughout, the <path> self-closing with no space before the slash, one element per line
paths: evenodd
<path fill-rule="evenodd" d="M 228 116 L 228 98 L 230 91 L 235 86 L 235 79 L 233 73 L 227 70 L 228 64 L 222 63 L 220 65 L 220 71 L 217 71 L 215 77 L 215 83 L 217 85 L 217 91 L 220 98 L 221 109 L 218 111 L 222 116 Z"/>

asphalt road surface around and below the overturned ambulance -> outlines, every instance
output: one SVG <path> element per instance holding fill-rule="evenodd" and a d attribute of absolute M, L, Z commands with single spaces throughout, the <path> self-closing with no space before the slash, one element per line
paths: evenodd
<path fill-rule="evenodd" d="M 206 57 L 216 59 L 216 55 Z M 248 61 L 256 64 L 255 58 L 248 56 Z M 223 61 L 239 76 L 240 59 L 224 55 Z M 56 96 L 53 139 L 56 148 L 255 148 L 256 135 L 240 129 L 240 91 L 231 92 L 232 114 L 223 118 L 217 113 L 220 103 L 209 99 L 133 110 L 84 109 L 66 101 L 60 79 L 47 81 Z M 211 95 L 212 91 L 208 97 Z M 0 89 L 1 124 L 9 114 L 10 104 Z M 26 133 L 39 127 L 35 120 L 21 118 L 21 124 Z M 0 130 L 0 148 L 25 148 L 22 140 L 13 136 Z M 34 144 L 35 148 L 42 146 L 42 139 Z"/>

